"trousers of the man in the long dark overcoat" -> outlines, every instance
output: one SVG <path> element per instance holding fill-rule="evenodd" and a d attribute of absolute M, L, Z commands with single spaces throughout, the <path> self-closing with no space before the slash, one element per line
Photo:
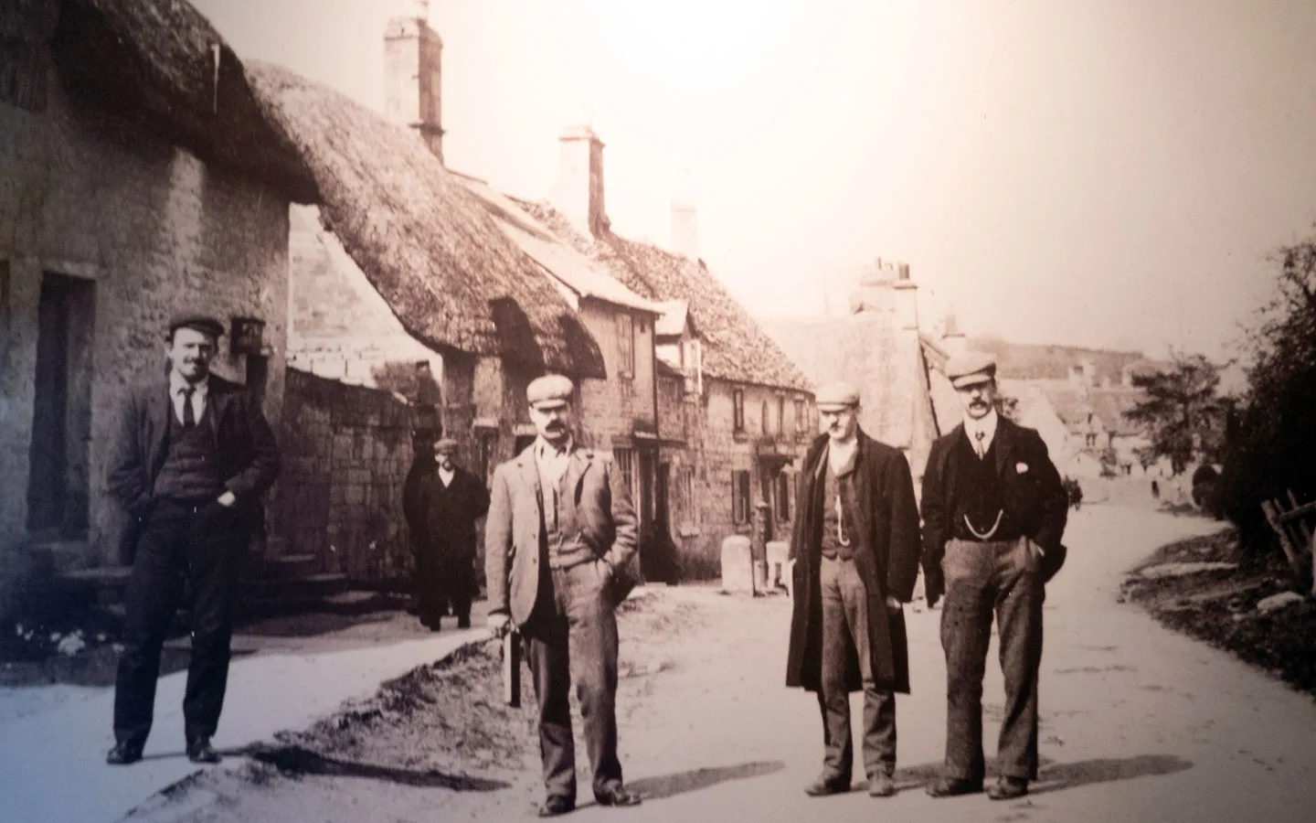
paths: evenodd
<path fill-rule="evenodd" d="M 863 678 L 863 768 L 867 776 L 896 770 L 896 695 L 879 690 L 873 677 L 869 644 L 869 591 L 853 560 L 822 557 L 822 772 L 829 780 L 850 780 L 854 744 L 850 737 L 850 691 L 845 682 L 846 647 L 859 656 Z"/>

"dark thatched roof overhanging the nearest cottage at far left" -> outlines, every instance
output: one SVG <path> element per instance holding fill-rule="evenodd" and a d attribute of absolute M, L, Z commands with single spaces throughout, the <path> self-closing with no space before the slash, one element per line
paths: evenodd
<path fill-rule="evenodd" d="M 262 117 L 242 63 L 190 4 L 64 0 L 50 45 L 71 96 L 138 120 L 292 200 L 313 196 L 307 169 Z"/>

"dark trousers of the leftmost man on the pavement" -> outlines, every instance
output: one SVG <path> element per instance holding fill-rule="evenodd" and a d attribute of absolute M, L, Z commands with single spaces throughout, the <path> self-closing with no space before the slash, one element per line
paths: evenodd
<path fill-rule="evenodd" d="M 151 731 L 161 647 L 191 593 L 192 660 L 183 695 L 188 739 L 213 735 L 224 706 L 233 636 L 233 597 L 247 529 L 218 503 L 159 500 L 133 558 L 124 650 L 114 682 L 114 737 L 141 745 Z"/>

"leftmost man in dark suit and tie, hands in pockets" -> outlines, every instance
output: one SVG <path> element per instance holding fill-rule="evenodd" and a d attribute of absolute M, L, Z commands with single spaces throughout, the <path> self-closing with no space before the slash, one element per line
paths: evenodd
<path fill-rule="evenodd" d="M 114 683 L 114 748 L 107 762 L 142 757 L 151 730 L 161 645 L 186 590 L 191 594 L 192 661 L 183 694 L 187 757 L 220 758 L 211 737 L 229 674 L 233 598 L 261 495 L 279 473 L 279 448 L 259 403 L 211 374 L 224 325 L 179 317 L 168 327 L 168 375 L 130 395 L 109 489 L 132 518 L 133 573 L 124 650 Z"/>

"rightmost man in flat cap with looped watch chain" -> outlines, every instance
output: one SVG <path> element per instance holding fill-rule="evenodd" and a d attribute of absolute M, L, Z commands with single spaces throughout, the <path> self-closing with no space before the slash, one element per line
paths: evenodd
<path fill-rule="evenodd" d="M 995 614 L 1005 712 L 994 801 L 1037 780 L 1037 672 L 1042 598 L 1063 561 L 1069 500 L 1046 444 L 996 410 L 996 361 L 982 353 L 946 363 L 965 419 L 937 440 L 923 477 L 923 565 L 928 603 L 945 594 L 946 765 L 933 797 L 982 791 L 982 691 Z"/>

